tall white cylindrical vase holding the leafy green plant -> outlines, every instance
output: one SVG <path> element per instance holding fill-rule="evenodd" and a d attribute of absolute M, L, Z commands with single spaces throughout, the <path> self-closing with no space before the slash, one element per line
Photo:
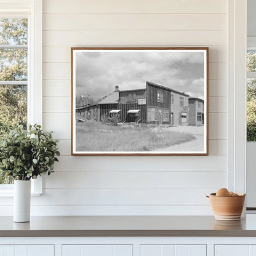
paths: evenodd
<path fill-rule="evenodd" d="M 14 181 L 14 222 L 30 222 L 30 180 Z"/>

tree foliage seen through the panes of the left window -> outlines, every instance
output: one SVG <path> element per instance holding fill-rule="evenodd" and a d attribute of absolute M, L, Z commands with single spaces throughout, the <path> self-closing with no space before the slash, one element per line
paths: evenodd
<path fill-rule="evenodd" d="M 28 44 L 28 20 L 0 18 L 0 140 L 9 130 L 27 122 L 26 84 L 4 84 L 4 81 L 27 81 L 27 49 L 10 47 Z M 0 172 L 0 184 L 13 183 Z"/>

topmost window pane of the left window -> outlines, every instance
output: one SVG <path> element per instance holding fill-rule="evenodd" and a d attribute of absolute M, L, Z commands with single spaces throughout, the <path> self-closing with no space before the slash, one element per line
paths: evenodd
<path fill-rule="evenodd" d="M 0 18 L 0 44 L 28 44 L 28 19 Z"/>

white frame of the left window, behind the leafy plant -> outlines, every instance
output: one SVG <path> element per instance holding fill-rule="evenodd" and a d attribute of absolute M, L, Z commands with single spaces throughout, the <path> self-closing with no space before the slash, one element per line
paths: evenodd
<path fill-rule="evenodd" d="M 0 18 L 28 18 L 28 124 L 42 124 L 42 0 L 0 0 Z M 13 193 L 0 185 L 0 196 Z M 42 193 L 41 177 L 31 179 L 31 193 Z"/>

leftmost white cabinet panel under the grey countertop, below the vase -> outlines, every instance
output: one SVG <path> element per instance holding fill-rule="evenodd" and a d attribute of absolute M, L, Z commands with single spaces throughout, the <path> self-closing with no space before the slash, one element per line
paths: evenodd
<path fill-rule="evenodd" d="M 0 246 L 0 256 L 54 256 L 54 245 Z"/>

